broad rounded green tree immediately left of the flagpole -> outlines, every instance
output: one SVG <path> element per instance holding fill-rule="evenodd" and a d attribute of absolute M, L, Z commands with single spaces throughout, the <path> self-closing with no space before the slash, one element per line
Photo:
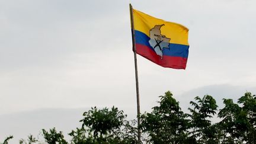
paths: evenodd
<path fill-rule="evenodd" d="M 103 108 L 98 110 L 97 107 L 91 108 L 84 114 L 82 122 L 83 133 L 85 130 L 88 132 L 86 137 L 77 129 L 71 133 L 73 140 L 78 140 L 76 136 L 81 135 L 84 137 L 82 142 L 91 143 L 136 143 L 136 136 L 134 134 L 134 127 L 125 120 L 126 115 L 118 108 L 112 107 L 111 110 Z"/>

